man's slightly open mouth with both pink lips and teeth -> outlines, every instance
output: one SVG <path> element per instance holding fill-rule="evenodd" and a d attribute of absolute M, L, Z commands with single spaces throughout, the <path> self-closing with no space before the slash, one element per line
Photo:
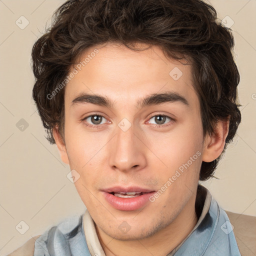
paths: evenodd
<path fill-rule="evenodd" d="M 140 187 L 114 187 L 102 191 L 105 200 L 118 210 L 137 210 L 149 203 L 149 197 L 155 191 Z"/>

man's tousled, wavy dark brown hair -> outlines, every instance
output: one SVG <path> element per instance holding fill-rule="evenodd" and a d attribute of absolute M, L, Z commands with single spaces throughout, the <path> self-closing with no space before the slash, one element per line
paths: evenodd
<path fill-rule="evenodd" d="M 229 120 L 224 152 L 241 121 L 239 72 L 232 56 L 231 29 L 218 22 L 215 9 L 202 0 L 64 2 L 32 48 L 32 95 L 50 143 L 55 143 L 55 126 L 64 138 L 64 89 L 51 99 L 47 95 L 65 80 L 84 50 L 107 42 L 122 43 L 133 50 L 139 50 L 136 43 L 157 45 L 166 57 L 189 60 L 203 136 L 214 132 L 218 120 Z M 220 156 L 211 162 L 202 161 L 200 180 L 213 176 Z"/>

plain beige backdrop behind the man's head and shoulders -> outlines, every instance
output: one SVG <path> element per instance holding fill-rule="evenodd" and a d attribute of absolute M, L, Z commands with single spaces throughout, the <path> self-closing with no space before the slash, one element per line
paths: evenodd
<path fill-rule="evenodd" d="M 44 137 L 31 96 L 31 47 L 44 31 L 45 23 L 50 24 L 52 12 L 63 2 L 0 0 L 0 255 L 64 217 L 85 211 L 73 183 L 66 177 L 69 167 L 61 162 L 56 146 Z M 203 184 L 223 209 L 255 216 L 256 0 L 210 2 L 219 19 L 228 15 L 231 19 L 225 19 L 227 24 L 234 21 L 231 28 L 241 75 L 238 91 L 242 123 L 215 172 L 220 179 Z M 21 15 L 29 21 L 24 29 L 15 23 Z M 28 123 L 23 131 L 16 127 L 21 118 Z M 24 234 L 15 229 L 21 220 L 29 226 Z"/>

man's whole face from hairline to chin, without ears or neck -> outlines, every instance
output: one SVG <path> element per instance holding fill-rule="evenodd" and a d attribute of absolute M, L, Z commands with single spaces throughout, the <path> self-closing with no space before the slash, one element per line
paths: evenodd
<path fill-rule="evenodd" d="M 157 46 L 94 48 L 65 86 L 61 157 L 97 228 L 145 238 L 194 207 L 204 144 L 191 66 Z"/>

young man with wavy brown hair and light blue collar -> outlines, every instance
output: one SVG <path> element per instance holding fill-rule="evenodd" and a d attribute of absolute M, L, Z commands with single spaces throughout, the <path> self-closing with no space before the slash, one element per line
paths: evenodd
<path fill-rule="evenodd" d="M 240 255 L 225 211 L 198 183 L 240 122 L 232 47 L 200 0 L 60 6 L 33 46 L 33 98 L 87 210 L 19 252 Z"/>

